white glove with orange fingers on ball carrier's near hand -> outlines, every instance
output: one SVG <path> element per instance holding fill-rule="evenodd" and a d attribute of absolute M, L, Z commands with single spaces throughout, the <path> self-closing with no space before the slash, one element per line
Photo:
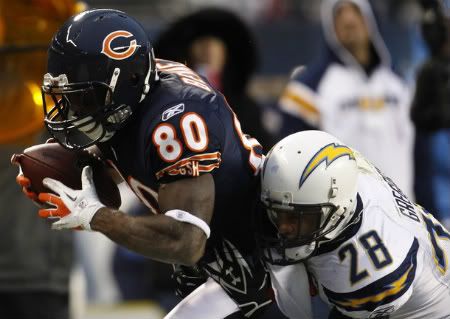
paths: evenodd
<path fill-rule="evenodd" d="M 39 210 L 39 216 L 60 217 L 52 224 L 52 229 L 81 228 L 91 230 L 91 220 L 95 213 L 105 207 L 98 199 L 92 177 L 92 167 L 85 166 L 81 173 L 81 190 L 74 190 L 63 183 L 44 178 L 43 184 L 58 195 L 50 193 L 39 194 L 41 202 L 50 204 L 53 208 Z"/>

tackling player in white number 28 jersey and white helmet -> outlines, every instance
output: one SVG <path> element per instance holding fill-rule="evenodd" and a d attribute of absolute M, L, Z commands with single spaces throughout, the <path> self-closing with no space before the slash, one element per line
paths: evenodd
<path fill-rule="evenodd" d="M 311 315 L 305 267 L 329 318 L 450 318 L 450 233 L 356 151 L 321 131 L 290 135 L 261 190 L 275 226 L 263 257 L 290 318 Z"/>

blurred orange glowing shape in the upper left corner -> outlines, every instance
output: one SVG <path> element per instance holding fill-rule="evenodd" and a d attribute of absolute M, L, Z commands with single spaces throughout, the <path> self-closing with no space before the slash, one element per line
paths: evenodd
<path fill-rule="evenodd" d="M 0 51 L 0 144 L 43 128 L 48 45 L 65 20 L 86 8 L 73 0 L 0 0 L 0 47 L 8 48 Z"/>

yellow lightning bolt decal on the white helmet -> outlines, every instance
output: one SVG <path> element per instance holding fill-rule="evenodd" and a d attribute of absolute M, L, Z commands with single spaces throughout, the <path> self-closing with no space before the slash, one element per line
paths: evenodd
<path fill-rule="evenodd" d="M 348 156 L 349 160 L 355 160 L 353 151 L 344 145 L 338 145 L 335 143 L 328 144 L 322 147 L 309 161 L 300 177 L 301 187 L 309 175 L 320 165 L 325 162 L 326 167 L 342 156 Z"/>

